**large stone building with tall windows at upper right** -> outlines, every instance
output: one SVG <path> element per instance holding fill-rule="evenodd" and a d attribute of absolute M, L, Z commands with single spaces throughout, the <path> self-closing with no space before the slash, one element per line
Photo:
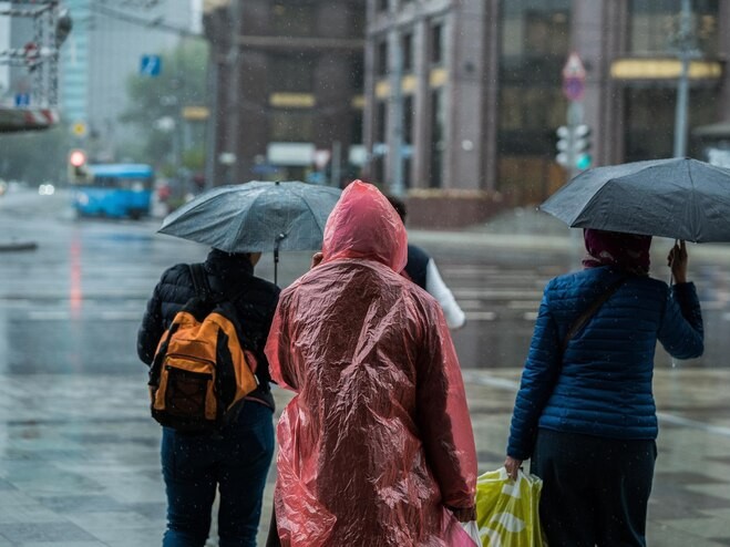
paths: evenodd
<path fill-rule="evenodd" d="M 687 154 L 701 156 L 698 127 L 730 117 L 730 4 L 688 3 L 682 27 L 682 0 L 369 0 L 368 176 L 409 196 L 538 203 L 575 173 L 555 157 L 570 111 L 594 166 L 670 157 L 687 52 Z"/>

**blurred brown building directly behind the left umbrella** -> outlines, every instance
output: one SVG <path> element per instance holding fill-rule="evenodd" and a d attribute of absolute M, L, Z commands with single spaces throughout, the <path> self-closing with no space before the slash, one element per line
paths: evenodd
<path fill-rule="evenodd" d="M 364 0 L 207 0 L 212 184 L 340 184 L 363 164 Z"/>

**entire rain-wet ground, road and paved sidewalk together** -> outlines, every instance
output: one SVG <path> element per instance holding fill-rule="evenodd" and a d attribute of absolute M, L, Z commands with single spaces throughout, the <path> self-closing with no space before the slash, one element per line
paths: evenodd
<path fill-rule="evenodd" d="M 66 198 L 0 198 L 0 547 L 160 545 L 160 427 L 147 411 L 136 329 L 163 269 L 202 260 L 207 249 L 156 235 L 157 219 L 75 220 Z M 543 286 L 578 267 L 580 240 L 523 210 L 472 230 L 410 237 L 433 255 L 466 312 L 453 338 L 480 469 L 496 468 Z M 37 248 L 22 250 L 28 241 Z M 652 247 L 652 275 L 665 280 L 670 245 Z M 658 350 L 656 359 L 660 436 L 648 537 L 668 547 L 730 545 L 730 246 L 689 251 L 706 354 L 677 363 Z M 280 285 L 306 271 L 309 256 L 282 254 Z M 257 274 L 273 271 L 265 255 Z M 289 394 L 276 398 L 280 412 Z M 274 481 L 275 469 L 261 545 Z"/>

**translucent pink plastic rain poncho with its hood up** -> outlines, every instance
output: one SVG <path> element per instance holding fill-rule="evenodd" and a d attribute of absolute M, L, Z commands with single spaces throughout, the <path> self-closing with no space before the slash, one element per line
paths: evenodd
<path fill-rule="evenodd" d="M 297 392 L 277 430 L 281 544 L 443 546 L 444 506 L 474 505 L 476 453 L 442 311 L 398 274 L 405 229 L 374 186 L 345 189 L 322 254 L 266 347 Z"/>

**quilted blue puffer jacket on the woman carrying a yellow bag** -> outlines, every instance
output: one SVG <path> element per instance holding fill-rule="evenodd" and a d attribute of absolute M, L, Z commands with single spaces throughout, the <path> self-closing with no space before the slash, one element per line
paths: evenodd
<path fill-rule="evenodd" d="M 626 281 L 568 343 L 576 317 L 618 277 Z M 656 438 L 651 391 L 657 340 L 677 359 L 702 354 L 702 316 L 693 283 L 608 267 L 551 280 L 522 374 L 507 454 L 532 455 L 537 427 L 610 438 Z"/>

